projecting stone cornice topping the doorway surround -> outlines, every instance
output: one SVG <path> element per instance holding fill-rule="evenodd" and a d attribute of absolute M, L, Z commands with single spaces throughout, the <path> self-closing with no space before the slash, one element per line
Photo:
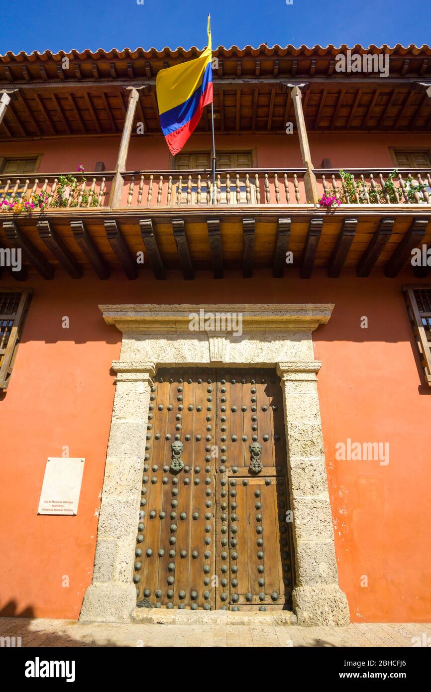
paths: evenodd
<path fill-rule="evenodd" d="M 99 305 L 105 322 L 115 325 L 122 333 L 139 330 L 145 334 L 190 331 L 191 315 L 236 313 L 241 315 L 242 332 L 267 334 L 273 332 L 308 332 L 326 325 L 333 303 L 300 304 L 108 304 Z M 203 329 L 203 332 L 213 329 Z M 232 329 L 226 330 L 235 335 Z"/>

